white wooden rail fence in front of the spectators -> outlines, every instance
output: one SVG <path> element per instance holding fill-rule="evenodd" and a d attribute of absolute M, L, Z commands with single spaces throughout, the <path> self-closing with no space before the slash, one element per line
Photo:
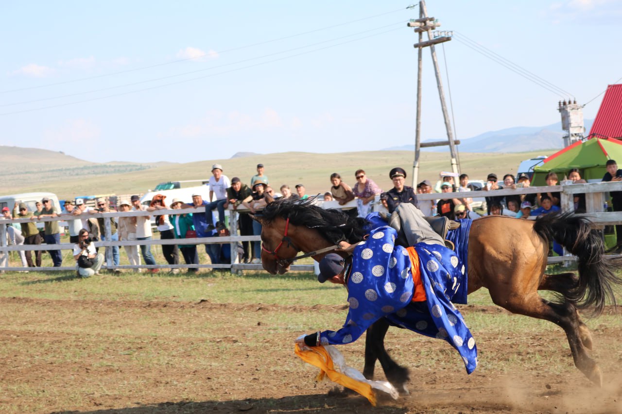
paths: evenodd
<path fill-rule="evenodd" d="M 547 192 L 561 193 L 560 204 L 562 210 L 570 211 L 573 209 L 573 195 L 585 194 L 587 212 L 583 214 L 590 218 L 597 228 L 603 228 L 606 224 L 622 224 L 622 211 L 616 211 L 611 213 L 603 212 L 603 204 L 605 202 L 605 193 L 608 191 L 622 191 L 622 182 L 618 183 L 587 183 L 587 184 L 571 184 L 571 185 L 556 185 L 556 186 L 542 186 L 542 187 L 527 187 L 516 188 L 516 190 L 491 190 L 491 191 L 470 191 L 468 193 L 432 193 L 432 194 L 418 194 L 419 200 L 439 200 L 448 198 L 462 198 L 460 196 L 468 197 L 490 197 L 490 196 L 506 196 L 506 195 L 522 195 L 532 193 L 547 193 Z M 319 202 L 322 204 L 321 202 Z M 351 201 L 344 208 L 352 208 L 356 205 L 356 201 Z M 334 208 L 334 203 L 327 203 L 327 208 Z M 244 212 L 243 209 L 239 209 L 240 212 Z M 111 217 L 131 217 L 131 216 L 153 216 L 160 214 L 186 214 L 186 213 L 205 213 L 205 207 L 190 208 L 190 209 L 168 209 L 158 211 L 128 211 L 128 212 L 116 212 L 110 213 L 96 213 L 88 214 L 88 218 L 111 218 Z M 230 213 L 230 232 L 231 234 L 237 234 L 238 212 L 233 209 L 229 210 Z M 85 214 L 85 213 L 83 213 Z M 74 218 L 74 216 L 58 216 L 55 218 L 41 218 L 38 222 L 45 221 L 65 221 L 67 219 Z M 80 216 L 75 216 L 80 219 Z M 19 245 L 19 246 L 6 246 L 6 226 L 9 223 L 29 223 L 29 218 L 14 218 L 11 220 L 0 220 L 0 252 L 11 251 L 48 251 L 48 250 L 73 250 L 73 244 L 40 244 L 40 245 Z M 95 242 L 96 247 L 111 247 L 111 246 L 144 246 L 144 245 L 163 245 L 163 244 L 231 244 L 231 264 L 156 264 L 156 265 L 111 265 L 112 249 L 106 249 L 106 263 L 108 266 L 106 269 L 179 269 L 179 268 L 211 268 L 211 269 L 231 269 L 232 272 L 238 270 L 262 270 L 261 264 L 241 264 L 238 261 L 238 242 L 243 241 L 261 241 L 260 236 L 228 236 L 228 237 L 203 237 L 196 239 L 152 239 L 141 241 L 109 241 L 111 237 L 111 229 L 109 220 L 104 220 L 105 228 L 103 229 L 104 237 L 106 241 Z M 252 249 L 252 246 L 250 246 Z M 574 260 L 572 256 L 563 257 L 549 257 L 549 264 L 568 262 Z M 75 265 L 71 267 L 3 267 L 0 270 L 75 270 Z M 291 270 L 304 270 L 312 271 L 313 265 L 292 265 Z"/>

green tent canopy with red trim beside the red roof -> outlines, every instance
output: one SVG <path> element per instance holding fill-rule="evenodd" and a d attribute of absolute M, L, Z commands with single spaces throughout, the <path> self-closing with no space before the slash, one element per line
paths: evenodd
<path fill-rule="evenodd" d="M 571 168 L 578 168 L 581 178 L 585 180 L 600 181 L 606 173 L 607 160 L 616 160 L 618 165 L 622 165 L 621 140 L 590 138 L 583 142 L 575 142 L 550 155 L 542 165 L 535 167 L 531 185 L 546 185 L 544 179 L 551 171 L 557 173 L 560 181 L 564 180 L 564 175 L 567 175 Z"/>

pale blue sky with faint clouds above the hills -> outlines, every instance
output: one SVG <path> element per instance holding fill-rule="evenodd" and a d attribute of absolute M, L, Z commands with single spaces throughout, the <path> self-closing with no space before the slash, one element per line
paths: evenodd
<path fill-rule="evenodd" d="M 32 1 L 0 6 L 0 144 L 95 162 L 414 142 L 417 36 L 401 1 Z M 622 2 L 427 1 L 458 138 L 559 121 L 622 78 Z M 471 44 L 473 45 L 473 44 Z M 445 71 L 447 65 L 448 76 Z M 445 136 L 424 50 L 422 138 Z M 549 86 L 549 89 L 551 87 Z M 588 103 L 592 119 L 601 96 Z"/>

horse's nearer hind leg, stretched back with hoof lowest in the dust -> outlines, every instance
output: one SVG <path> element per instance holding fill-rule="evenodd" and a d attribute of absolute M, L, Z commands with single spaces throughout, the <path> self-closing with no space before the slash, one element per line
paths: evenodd
<path fill-rule="evenodd" d="M 522 297 L 513 295 L 509 298 L 506 296 L 495 298 L 491 292 L 491 297 L 493 297 L 496 305 L 503 306 L 512 313 L 544 319 L 559 325 L 564 329 L 568 338 L 575 366 L 594 384 L 602 385 L 603 375 L 596 362 L 588 355 L 587 347 L 583 344 L 581 322 L 578 319 L 577 308 L 572 303 L 552 303 L 542 299 L 537 293 Z"/>

